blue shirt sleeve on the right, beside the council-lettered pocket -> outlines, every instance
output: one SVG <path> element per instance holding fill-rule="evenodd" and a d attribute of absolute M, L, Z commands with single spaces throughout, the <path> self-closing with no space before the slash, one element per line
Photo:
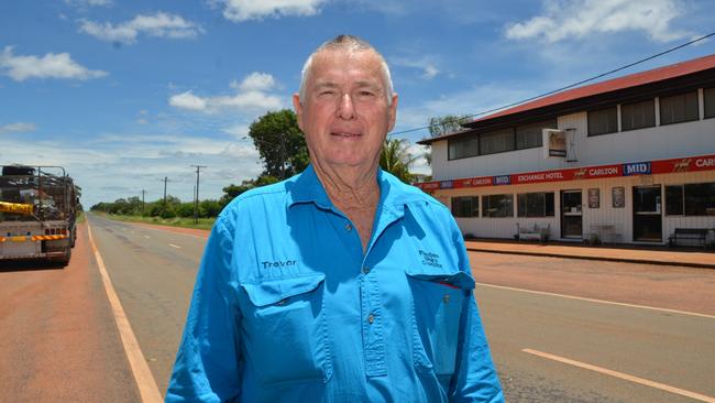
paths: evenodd
<path fill-rule="evenodd" d="M 457 225 L 454 225 L 457 227 Z M 470 262 L 464 240 L 454 228 L 454 243 L 458 249 L 460 268 L 470 272 Z M 457 371 L 450 388 L 450 402 L 504 402 L 504 393 L 490 352 L 482 319 L 476 307 L 474 293 L 464 299 L 460 323 Z"/>

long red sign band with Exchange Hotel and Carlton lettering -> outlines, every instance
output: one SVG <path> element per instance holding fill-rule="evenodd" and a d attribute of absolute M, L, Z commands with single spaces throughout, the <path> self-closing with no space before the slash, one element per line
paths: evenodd
<path fill-rule="evenodd" d="M 694 171 L 715 171 L 715 155 L 686 156 L 671 160 L 645 161 L 627 164 L 585 166 L 568 170 L 528 172 L 512 175 L 479 176 L 453 181 L 418 183 L 425 192 L 437 189 L 519 185 L 544 182 L 595 179 L 631 175 L 672 174 Z"/>

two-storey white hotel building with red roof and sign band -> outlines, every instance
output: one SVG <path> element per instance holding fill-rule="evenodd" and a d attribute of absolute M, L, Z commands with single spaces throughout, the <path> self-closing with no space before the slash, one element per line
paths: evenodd
<path fill-rule="evenodd" d="M 419 142 L 435 182 L 418 186 L 465 235 L 666 243 L 675 228 L 715 228 L 715 55 L 463 127 Z"/>

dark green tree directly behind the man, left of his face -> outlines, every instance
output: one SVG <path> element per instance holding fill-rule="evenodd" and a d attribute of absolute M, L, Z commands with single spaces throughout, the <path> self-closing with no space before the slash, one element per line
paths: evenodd
<path fill-rule="evenodd" d="M 290 177 L 308 166 L 308 146 L 298 127 L 296 113 L 289 109 L 267 112 L 249 129 L 265 171 L 261 176 Z"/>

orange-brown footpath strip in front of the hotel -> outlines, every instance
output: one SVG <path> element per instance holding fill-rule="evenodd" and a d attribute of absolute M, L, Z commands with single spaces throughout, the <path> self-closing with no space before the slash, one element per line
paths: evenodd
<path fill-rule="evenodd" d="M 468 240 L 466 249 L 474 252 L 529 254 L 552 258 L 607 260 L 646 264 L 682 265 L 715 269 L 715 252 L 703 249 L 582 246 L 569 243 L 513 242 L 508 240 Z"/>

